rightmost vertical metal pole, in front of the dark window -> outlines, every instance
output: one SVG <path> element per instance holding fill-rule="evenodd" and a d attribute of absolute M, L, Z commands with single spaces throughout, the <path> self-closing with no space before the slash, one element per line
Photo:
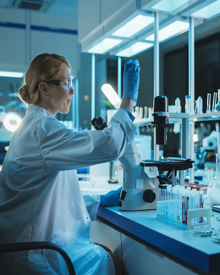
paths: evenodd
<path fill-rule="evenodd" d="M 191 114 L 195 109 L 195 34 L 194 34 L 194 18 L 189 18 L 189 95 L 191 97 Z M 194 160 L 194 140 L 195 123 L 189 124 L 189 157 Z M 194 165 L 189 169 L 189 182 L 194 183 Z"/>

